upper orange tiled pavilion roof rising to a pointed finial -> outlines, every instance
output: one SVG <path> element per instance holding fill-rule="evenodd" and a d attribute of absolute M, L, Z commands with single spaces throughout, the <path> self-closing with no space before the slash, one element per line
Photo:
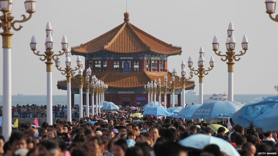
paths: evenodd
<path fill-rule="evenodd" d="M 71 47 L 73 54 L 92 54 L 101 51 L 113 53 L 153 52 L 181 55 L 181 47 L 165 43 L 129 23 L 129 13 L 124 13 L 124 23 L 105 34 L 79 46 Z"/>

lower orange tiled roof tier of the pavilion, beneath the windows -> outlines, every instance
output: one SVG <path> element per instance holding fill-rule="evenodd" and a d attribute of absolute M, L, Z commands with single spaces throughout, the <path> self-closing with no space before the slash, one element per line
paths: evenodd
<path fill-rule="evenodd" d="M 85 74 L 85 73 L 84 73 Z M 142 88 L 145 84 L 148 82 L 155 80 L 158 83 L 158 79 L 162 81 L 163 84 L 163 78 L 165 75 L 168 77 L 167 84 L 170 84 L 170 81 L 172 80 L 172 73 L 169 71 L 165 72 L 148 72 L 146 70 L 143 71 L 136 71 L 136 72 L 130 72 L 130 73 L 123 73 L 123 72 L 117 72 L 117 71 L 105 71 L 105 72 L 94 72 L 93 73 L 98 80 L 102 80 L 105 84 L 108 85 L 109 88 Z M 75 77 L 78 75 L 75 75 Z M 64 89 L 67 88 L 67 82 L 66 80 L 60 80 L 58 81 L 58 89 Z M 195 86 L 194 81 L 187 81 L 185 88 L 193 88 Z M 85 85 L 83 85 L 85 88 Z M 78 89 L 79 84 L 75 80 L 71 80 L 71 88 L 72 89 Z M 176 78 L 175 80 L 175 88 L 181 89 L 181 83 L 179 82 L 179 79 Z"/>

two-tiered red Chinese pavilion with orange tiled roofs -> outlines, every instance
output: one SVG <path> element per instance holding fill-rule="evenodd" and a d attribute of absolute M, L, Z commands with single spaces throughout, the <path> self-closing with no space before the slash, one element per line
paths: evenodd
<path fill-rule="evenodd" d="M 167 75 L 168 84 L 172 73 L 167 69 L 167 58 L 181 55 L 181 47 L 165 43 L 140 30 L 129 22 L 129 13 L 124 13 L 124 23 L 105 34 L 79 46 L 71 47 L 72 55 L 85 57 L 83 69 L 91 68 L 92 75 L 108 85 L 105 100 L 116 105 L 136 106 L 148 102 L 144 85 L 151 80 Z M 66 80 L 58 81 L 58 89 L 67 90 Z M 85 88 L 85 85 L 83 86 Z M 175 80 L 175 94 L 181 106 L 181 83 Z M 194 89 L 194 81 L 187 81 L 185 90 Z M 84 89 L 85 90 L 85 89 Z M 168 91 L 171 91 L 170 89 Z M 71 103 L 74 94 L 79 94 L 78 82 L 71 82 Z M 162 92 L 163 94 L 163 92 Z M 83 105 L 86 93 L 83 92 Z M 158 101 L 158 95 L 156 96 Z M 164 101 L 164 96 L 161 96 Z M 89 95 L 91 105 L 91 94 Z M 170 92 L 167 92 L 167 107 L 170 107 Z"/>

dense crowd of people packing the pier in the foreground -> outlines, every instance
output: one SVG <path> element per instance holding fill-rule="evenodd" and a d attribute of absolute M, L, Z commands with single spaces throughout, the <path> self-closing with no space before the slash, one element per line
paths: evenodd
<path fill-rule="evenodd" d="M 138 108 L 138 107 L 137 107 Z M 225 156 L 218 145 L 210 144 L 203 149 L 183 147 L 178 142 L 194 134 L 205 134 L 229 142 L 242 156 L 258 153 L 278 153 L 277 134 L 261 133 L 253 127 L 244 128 L 229 121 L 218 122 L 232 127 L 213 132 L 209 123 L 194 122 L 181 118 L 152 115 L 131 117 L 142 112 L 139 107 L 131 111 L 122 107 L 118 113 L 102 111 L 101 115 L 73 118 L 72 122 L 56 120 L 55 124 L 42 123 L 34 128 L 30 123 L 19 124 L 5 142 L 0 136 L 2 155 L 92 155 L 92 156 Z"/>

